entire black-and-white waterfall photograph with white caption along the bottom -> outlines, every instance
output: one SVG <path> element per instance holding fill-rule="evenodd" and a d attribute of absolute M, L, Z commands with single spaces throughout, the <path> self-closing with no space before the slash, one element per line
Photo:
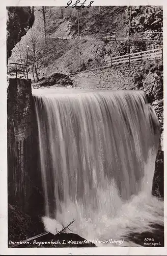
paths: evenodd
<path fill-rule="evenodd" d="M 6 7 L 8 248 L 164 247 L 163 6 L 66 2 Z"/>

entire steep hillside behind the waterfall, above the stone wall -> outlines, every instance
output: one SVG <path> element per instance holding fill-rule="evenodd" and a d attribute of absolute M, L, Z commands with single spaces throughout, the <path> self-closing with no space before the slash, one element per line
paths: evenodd
<path fill-rule="evenodd" d="M 71 7 L 47 7 L 44 37 L 43 15 L 39 11 L 40 7 L 36 7 L 35 24 L 22 38 L 19 47 L 16 46 L 12 51 L 11 60 L 26 63 L 28 44 L 29 76 L 34 81 L 53 73 L 69 75 L 105 66 L 110 56 L 127 54 L 127 40 L 102 40 L 101 35 L 110 32 L 127 33 L 129 8 L 101 6 L 76 10 Z M 130 32 L 147 32 L 148 38 L 158 37 L 158 34 L 155 36 L 155 32 L 162 32 L 162 11 L 144 14 L 145 9 L 146 7 L 132 8 Z M 159 47 L 158 41 L 130 42 L 130 52 Z"/>

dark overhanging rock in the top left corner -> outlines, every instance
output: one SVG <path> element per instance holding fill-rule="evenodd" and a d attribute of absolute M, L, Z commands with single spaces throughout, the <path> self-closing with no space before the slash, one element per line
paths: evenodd
<path fill-rule="evenodd" d="M 7 63 L 12 54 L 12 49 L 21 37 L 33 26 L 34 8 L 31 7 L 7 7 Z"/>

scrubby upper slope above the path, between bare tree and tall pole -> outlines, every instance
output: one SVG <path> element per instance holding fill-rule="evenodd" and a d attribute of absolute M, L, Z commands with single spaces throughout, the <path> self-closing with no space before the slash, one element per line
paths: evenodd
<path fill-rule="evenodd" d="M 64 8 L 63 18 L 61 18 L 60 7 L 54 7 L 48 13 L 48 19 L 52 22 L 47 24 L 47 33 L 59 37 L 62 35 L 63 27 L 68 26 L 68 33 L 64 33 L 64 36 L 78 37 L 78 16 L 80 36 L 99 37 L 100 34 L 110 30 L 126 32 L 128 29 L 126 9 L 126 6 L 101 6 L 100 10 L 97 6 L 79 10 Z"/>

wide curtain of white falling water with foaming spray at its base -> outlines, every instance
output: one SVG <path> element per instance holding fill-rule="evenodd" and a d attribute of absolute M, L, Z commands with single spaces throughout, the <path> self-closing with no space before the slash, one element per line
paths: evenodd
<path fill-rule="evenodd" d="M 65 91 L 66 92 L 66 91 Z M 142 91 L 34 95 L 46 230 L 121 239 L 163 223 L 151 196 L 158 120 Z"/>

